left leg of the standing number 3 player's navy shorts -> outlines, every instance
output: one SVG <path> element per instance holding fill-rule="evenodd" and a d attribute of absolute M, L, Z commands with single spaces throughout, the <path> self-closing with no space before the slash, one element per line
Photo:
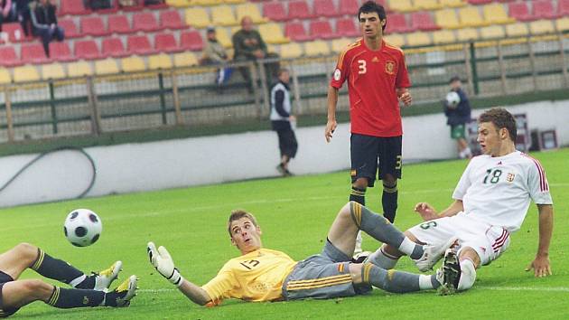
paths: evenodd
<path fill-rule="evenodd" d="M 378 173 L 378 136 L 351 134 L 351 183 L 359 178 L 368 178 L 368 187 L 373 187 Z"/>

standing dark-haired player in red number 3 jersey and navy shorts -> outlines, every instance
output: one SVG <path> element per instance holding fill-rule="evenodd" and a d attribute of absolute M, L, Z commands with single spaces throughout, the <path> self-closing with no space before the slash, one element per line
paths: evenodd
<path fill-rule="evenodd" d="M 340 53 L 328 89 L 328 123 L 324 136 L 330 142 L 337 127 L 338 90 L 348 80 L 350 95 L 350 201 L 365 205 L 366 189 L 373 187 L 376 174 L 383 181 L 384 216 L 395 220 L 397 179 L 401 177 L 401 114 L 399 101 L 409 106 L 405 56 L 401 49 L 383 40 L 387 16 L 373 1 L 361 5 L 358 13 L 362 39 Z M 379 171 L 379 172 L 378 172 Z M 360 243 L 359 237 L 359 243 Z M 356 250 L 361 250 L 361 245 Z"/>

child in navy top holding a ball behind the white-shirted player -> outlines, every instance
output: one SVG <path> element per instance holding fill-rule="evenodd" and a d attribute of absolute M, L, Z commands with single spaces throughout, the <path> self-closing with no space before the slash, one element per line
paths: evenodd
<path fill-rule="evenodd" d="M 451 137 L 456 140 L 459 157 L 471 158 L 471 148 L 466 141 L 466 124 L 471 122 L 471 103 L 462 90 L 462 82 L 458 76 L 449 81 L 451 91 L 444 100 L 444 115 L 446 124 L 451 126 Z"/>

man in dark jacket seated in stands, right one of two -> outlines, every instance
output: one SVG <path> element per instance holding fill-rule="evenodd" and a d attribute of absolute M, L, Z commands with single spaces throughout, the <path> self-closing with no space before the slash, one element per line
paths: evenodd
<path fill-rule="evenodd" d="M 267 51 L 266 43 L 261 38 L 261 34 L 253 29 L 253 20 L 250 16 L 244 16 L 241 19 L 241 30 L 233 34 L 233 48 L 235 49 L 234 61 L 257 61 L 258 59 L 276 58 L 275 53 Z M 278 62 L 266 63 L 267 80 L 276 78 L 276 72 L 279 70 Z M 247 67 L 239 68 L 243 79 L 247 81 L 247 87 L 252 89 L 251 74 Z"/>

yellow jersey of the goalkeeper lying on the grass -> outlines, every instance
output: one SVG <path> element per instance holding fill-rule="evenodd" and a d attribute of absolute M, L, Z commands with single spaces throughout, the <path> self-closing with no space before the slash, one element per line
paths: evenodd
<path fill-rule="evenodd" d="M 213 305 L 223 298 L 272 301 L 282 297 L 283 281 L 296 261 L 281 251 L 257 249 L 230 259 L 203 288 Z"/>

